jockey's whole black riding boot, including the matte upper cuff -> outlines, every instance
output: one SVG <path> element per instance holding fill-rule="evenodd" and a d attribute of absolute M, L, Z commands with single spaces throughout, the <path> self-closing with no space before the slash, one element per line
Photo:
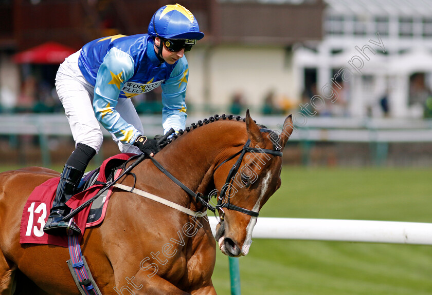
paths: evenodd
<path fill-rule="evenodd" d="M 70 155 L 60 175 L 56 198 L 52 202 L 52 208 L 43 229 L 44 232 L 53 235 L 67 233 L 66 230 L 69 227 L 69 221 L 65 222 L 63 218 L 69 214 L 70 208 L 66 206 L 66 202 L 75 194 L 85 168 L 95 154 L 95 149 L 85 144 L 77 144 L 77 148 Z M 80 228 L 74 222 L 70 224 L 69 229 L 73 233 L 81 233 Z"/>

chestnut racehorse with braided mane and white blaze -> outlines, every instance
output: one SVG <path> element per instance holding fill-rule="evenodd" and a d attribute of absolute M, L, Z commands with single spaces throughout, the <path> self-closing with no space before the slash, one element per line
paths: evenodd
<path fill-rule="evenodd" d="M 261 207 L 281 184 L 281 156 L 293 131 L 291 115 L 283 132 L 269 135 L 246 113 L 211 117 L 192 125 L 154 156 L 193 192 L 224 192 L 219 200 L 223 222 L 217 228 L 219 248 L 227 255 L 246 255 Z M 209 123 L 209 124 L 208 124 Z M 244 147 L 249 143 L 249 147 Z M 243 152 L 239 152 L 243 151 Z M 279 152 L 281 155 L 281 152 Z M 240 160 L 239 160 L 240 159 Z M 233 164 L 238 167 L 233 174 Z M 119 183 L 161 196 L 194 211 L 206 212 L 149 159 Z M 20 244 L 24 204 L 34 187 L 58 177 L 50 169 L 30 167 L 0 173 L 0 294 L 79 294 L 66 265 L 67 248 Z M 228 189 L 223 189 L 230 183 Z M 236 187 L 237 186 L 237 187 Z M 205 199 L 205 198 L 204 198 Z M 214 201 L 214 200 L 212 200 Z M 205 203 L 205 202 L 204 202 Z M 214 202 L 215 203 L 215 202 Z M 114 188 L 105 220 L 88 228 L 83 255 L 102 294 L 215 294 L 211 281 L 215 241 L 204 217 L 193 217 L 129 191 Z"/>

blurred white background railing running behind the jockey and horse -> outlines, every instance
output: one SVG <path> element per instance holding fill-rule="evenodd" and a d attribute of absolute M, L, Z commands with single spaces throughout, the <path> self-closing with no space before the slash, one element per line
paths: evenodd
<path fill-rule="evenodd" d="M 209 116 L 207 116 L 208 118 Z M 147 135 L 161 134 L 160 115 L 141 115 Z M 189 115 L 187 126 L 203 120 Z M 268 128 L 280 131 L 284 116 L 255 116 L 254 119 Z M 111 136 L 101 128 L 104 136 Z M 64 114 L 1 114 L 0 135 L 31 134 L 39 137 L 41 158 L 44 166 L 50 165 L 48 136 L 70 136 L 71 132 Z M 432 121 L 402 119 L 356 119 L 336 117 L 309 117 L 304 126 L 297 126 L 290 142 L 353 142 L 372 143 L 375 147 L 376 163 L 387 158 L 388 143 L 432 142 Z M 305 153 L 307 155 L 307 153 Z"/>

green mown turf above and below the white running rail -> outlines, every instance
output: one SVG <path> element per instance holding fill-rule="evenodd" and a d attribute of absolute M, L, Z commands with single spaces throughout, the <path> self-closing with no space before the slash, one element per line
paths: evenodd
<path fill-rule="evenodd" d="M 284 167 L 260 216 L 432 222 L 431 179 L 432 169 Z M 432 294 L 432 247 L 255 239 L 240 276 L 247 295 Z M 220 252 L 213 283 L 230 294 Z"/>

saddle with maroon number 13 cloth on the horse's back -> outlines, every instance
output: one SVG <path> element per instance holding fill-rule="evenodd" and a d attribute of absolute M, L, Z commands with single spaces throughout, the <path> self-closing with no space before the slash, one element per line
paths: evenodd
<path fill-rule="evenodd" d="M 121 153 L 106 159 L 102 165 L 87 172 L 78 185 L 76 194 L 66 202 L 71 209 L 76 209 L 85 201 L 91 199 L 105 184 L 117 178 L 124 163 L 135 154 Z M 20 227 L 21 244 L 49 244 L 67 247 L 67 236 L 50 235 L 43 232 L 43 226 L 48 219 L 49 209 L 54 200 L 60 177 L 52 178 L 35 187 L 24 205 Z M 102 223 L 113 187 L 107 189 L 91 206 L 86 207 L 75 216 L 75 223 L 80 227 L 82 239 L 84 230 Z"/>

